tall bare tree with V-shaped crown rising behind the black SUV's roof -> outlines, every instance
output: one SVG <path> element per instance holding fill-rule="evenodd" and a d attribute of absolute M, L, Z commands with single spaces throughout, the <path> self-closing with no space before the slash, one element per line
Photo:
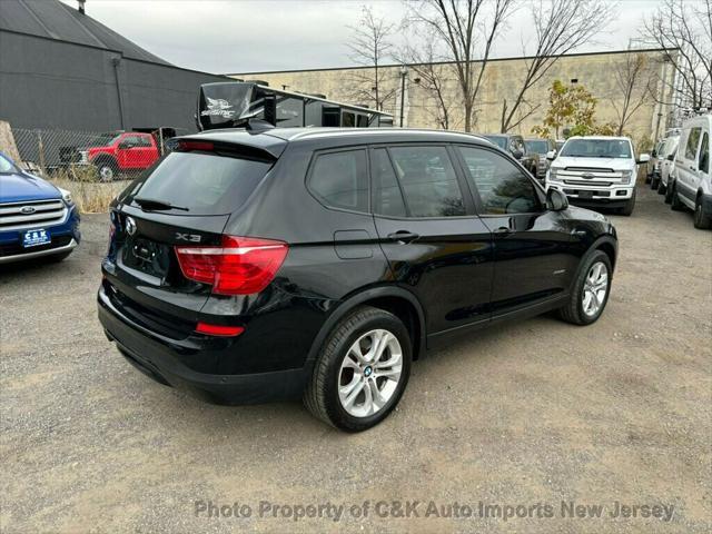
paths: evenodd
<path fill-rule="evenodd" d="M 464 127 L 471 131 L 492 46 L 515 0 L 418 0 L 408 6 L 409 22 L 428 28 L 454 65 Z"/>

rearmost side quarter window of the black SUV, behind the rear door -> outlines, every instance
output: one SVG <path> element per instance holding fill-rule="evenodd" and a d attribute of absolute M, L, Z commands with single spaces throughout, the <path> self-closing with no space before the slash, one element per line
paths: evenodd
<path fill-rule="evenodd" d="M 308 188 L 327 207 L 368 211 L 366 150 L 319 154 Z"/>

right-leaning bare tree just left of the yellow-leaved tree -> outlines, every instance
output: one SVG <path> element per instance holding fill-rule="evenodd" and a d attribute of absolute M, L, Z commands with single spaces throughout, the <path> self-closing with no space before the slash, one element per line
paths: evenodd
<path fill-rule="evenodd" d="M 511 102 L 505 99 L 502 103 L 502 132 L 516 128 L 538 109 L 540 105 L 527 102 L 527 91 L 558 58 L 600 32 L 613 19 L 613 9 L 604 0 L 538 0 L 532 4 L 535 50 L 532 58 L 526 60 L 526 71 L 516 97 Z"/>

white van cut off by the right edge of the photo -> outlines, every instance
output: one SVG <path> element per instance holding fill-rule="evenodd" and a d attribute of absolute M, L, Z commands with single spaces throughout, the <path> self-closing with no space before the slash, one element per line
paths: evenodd
<path fill-rule="evenodd" d="M 712 227 L 712 186 L 710 184 L 710 135 L 712 115 L 688 120 L 682 127 L 672 182 L 672 209 L 694 209 L 694 227 Z"/>

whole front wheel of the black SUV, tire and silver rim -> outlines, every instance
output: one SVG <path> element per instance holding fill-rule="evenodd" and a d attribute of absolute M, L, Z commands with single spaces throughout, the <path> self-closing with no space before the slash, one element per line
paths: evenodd
<path fill-rule="evenodd" d="M 568 304 L 558 309 L 558 316 L 573 325 L 595 323 L 609 301 L 612 274 L 611 259 L 603 250 L 593 250 L 584 257 Z"/>

